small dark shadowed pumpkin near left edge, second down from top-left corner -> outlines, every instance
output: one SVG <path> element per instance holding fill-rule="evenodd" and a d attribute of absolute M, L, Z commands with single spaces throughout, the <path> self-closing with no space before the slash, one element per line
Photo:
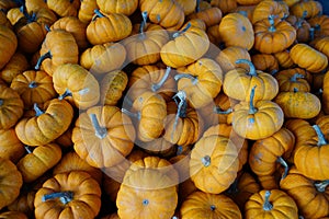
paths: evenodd
<path fill-rule="evenodd" d="M 30 64 L 25 55 L 18 51 L 11 57 L 9 62 L 2 68 L 2 70 L 0 71 L 0 77 L 3 81 L 10 84 L 13 78 L 26 71 L 29 68 L 30 68 Z"/>

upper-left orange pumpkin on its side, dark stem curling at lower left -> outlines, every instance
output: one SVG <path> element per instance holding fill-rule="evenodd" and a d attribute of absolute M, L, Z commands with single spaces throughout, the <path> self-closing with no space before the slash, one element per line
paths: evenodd
<path fill-rule="evenodd" d="M 73 35 L 64 30 L 53 30 L 47 33 L 39 49 L 41 57 L 35 69 L 43 69 L 53 76 L 56 68 L 63 64 L 78 64 L 79 47 Z"/>

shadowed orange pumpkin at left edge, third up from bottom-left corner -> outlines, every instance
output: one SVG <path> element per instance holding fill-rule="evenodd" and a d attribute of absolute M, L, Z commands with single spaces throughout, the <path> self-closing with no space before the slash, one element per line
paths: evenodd
<path fill-rule="evenodd" d="M 0 129 L 0 154 L 16 163 L 25 153 L 24 146 L 16 136 L 14 128 Z"/>

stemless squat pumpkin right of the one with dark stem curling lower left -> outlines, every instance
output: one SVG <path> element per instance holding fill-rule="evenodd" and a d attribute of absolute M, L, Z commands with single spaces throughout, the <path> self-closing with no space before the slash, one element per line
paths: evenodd
<path fill-rule="evenodd" d="M 87 48 L 80 55 L 80 66 L 93 74 L 103 74 L 121 69 L 126 59 L 126 49 L 120 43 L 105 43 Z"/>

